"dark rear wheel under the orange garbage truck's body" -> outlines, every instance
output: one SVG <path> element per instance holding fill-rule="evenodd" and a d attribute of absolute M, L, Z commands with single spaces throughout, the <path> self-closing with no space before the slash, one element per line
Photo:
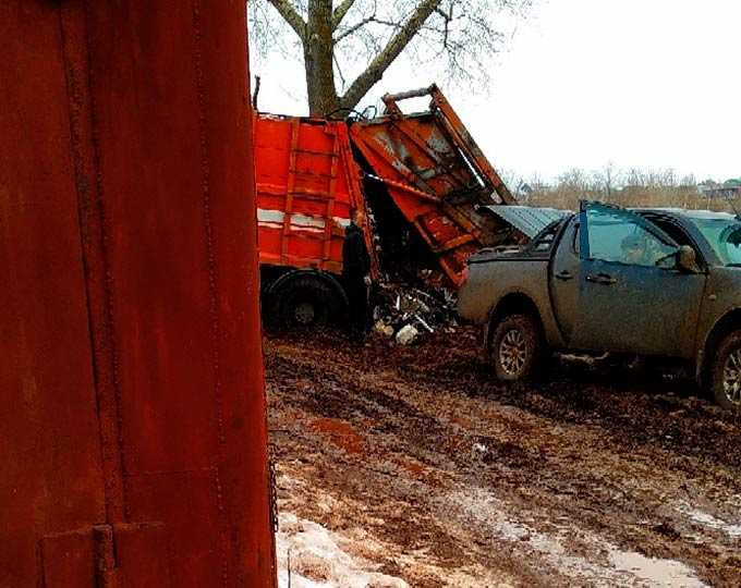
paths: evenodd
<path fill-rule="evenodd" d="M 328 327 L 340 306 L 331 286 L 311 275 L 292 279 L 276 293 L 280 326 L 290 330 Z"/>

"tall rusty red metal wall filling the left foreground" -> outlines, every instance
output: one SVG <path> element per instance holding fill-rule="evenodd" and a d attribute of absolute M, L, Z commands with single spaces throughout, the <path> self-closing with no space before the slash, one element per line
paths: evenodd
<path fill-rule="evenodd" d="M 272 586 L 244 2 L 0 3 L 0 586 Z"/>

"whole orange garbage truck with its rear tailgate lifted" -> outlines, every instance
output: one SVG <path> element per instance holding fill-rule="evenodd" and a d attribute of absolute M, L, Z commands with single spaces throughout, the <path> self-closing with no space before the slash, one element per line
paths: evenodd
<path fill-rule="evenodd" d="M 405 114 L 399 103 L 428 96 Z M 263 301 L 282 324 L 347 311 L 342 242 L 350 210 L 372 220 L 372 273 L 437 270 L 463 281 L 467 258 L 512 235 L 493 207 L 514 198 L 437 86 L 384 97 L 377 118 L 256 114 L 255 167 Z"/>

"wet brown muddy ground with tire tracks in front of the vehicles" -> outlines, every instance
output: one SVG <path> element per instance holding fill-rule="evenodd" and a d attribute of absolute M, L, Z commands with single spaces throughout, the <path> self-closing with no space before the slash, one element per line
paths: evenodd
<path fill-rule="evenodd" d="M 741 586 L 741 419 L 691 382 L 557 363 L 506 387 L 469 329 L 413 347 L 274 336 L 265 354 L 280 511 L 369 569 L 423 587 Z"/>

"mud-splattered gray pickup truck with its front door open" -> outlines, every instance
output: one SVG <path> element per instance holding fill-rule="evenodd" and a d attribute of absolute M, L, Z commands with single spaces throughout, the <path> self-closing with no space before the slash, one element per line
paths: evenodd
<path fill-rule="evenodd" d="M 549 351 L 690 365 L 741 407 L 741 220 L 721 212 L 582 203 L 514 250 L 469 260 L 461 317 L 484 326 L 498 378 L 532 377 Z"/>

